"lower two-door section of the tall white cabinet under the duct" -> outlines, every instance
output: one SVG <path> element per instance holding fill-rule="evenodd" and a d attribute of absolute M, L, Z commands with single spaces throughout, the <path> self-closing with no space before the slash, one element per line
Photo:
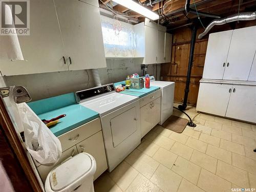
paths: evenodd
<path fill-rule="evenodd" d="M 197 111 L 256 123 L 256 84 L 200 82 Z"/>

